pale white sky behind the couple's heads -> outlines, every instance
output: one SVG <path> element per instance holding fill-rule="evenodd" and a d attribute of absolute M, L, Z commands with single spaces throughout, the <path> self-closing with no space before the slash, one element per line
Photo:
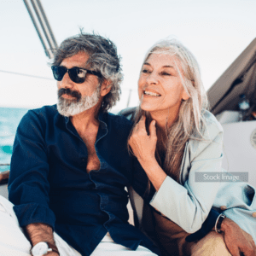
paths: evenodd
<path fill-rule="evenodd" d="M 117 45 L 125 79 L 114 111 L 137 106 L 137 79 L 146 51 L 177 38 L 195 55 L 206 90 L 256 38 L 255 0 L 41 0 L 61 44 L 98 32 Z M 57 101 L 49 59 L 22 0 L 0 0 L 0 107 L 40 108 Z M 16 73 L 27 74 L 19 75 Z M 44 77 L 47 79 L 38 79 Z"/>

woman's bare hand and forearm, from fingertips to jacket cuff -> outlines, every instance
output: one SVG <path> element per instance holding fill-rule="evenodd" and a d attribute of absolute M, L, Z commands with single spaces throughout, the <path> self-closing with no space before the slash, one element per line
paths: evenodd
<path fill-rule="evenodd" d="M 134 127 L 128 143 L 133 154 L 135 154 L 137 160 L 147 173 L 154 189 L 158 191 L 166 179 L 166 172 L 160 167 L 154 155 L 157 142 L 155 120 L 149 125 L 149 135 L 145 123 L 146 118 L 143 116 Z"/>

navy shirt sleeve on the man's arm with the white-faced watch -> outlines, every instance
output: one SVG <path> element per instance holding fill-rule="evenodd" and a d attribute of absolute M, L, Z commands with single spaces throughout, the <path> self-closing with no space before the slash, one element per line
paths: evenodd
<path fill-rule="evenodd" d="M 16 131 L 10 166 L 9 201 L 20 226 L 32 223 L 55 225 L 49 209 L 49 165 L 44 142 L 44 118 L 29 111 Z"/>

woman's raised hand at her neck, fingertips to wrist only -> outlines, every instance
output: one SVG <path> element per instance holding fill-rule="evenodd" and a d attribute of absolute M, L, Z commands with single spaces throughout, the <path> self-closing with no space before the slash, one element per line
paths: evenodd
<path fill-rule="evenodd" d="M 149 125 L 148 135 L 146 130 L 146 118 L 143 115 L 137 125 L 135 125 L 128 142 L 133 154 L 137 157 L 137 160 L 142 166 L 150 160 L 155 160 L 154 153 L 156 142 L 155 120 Z"/>

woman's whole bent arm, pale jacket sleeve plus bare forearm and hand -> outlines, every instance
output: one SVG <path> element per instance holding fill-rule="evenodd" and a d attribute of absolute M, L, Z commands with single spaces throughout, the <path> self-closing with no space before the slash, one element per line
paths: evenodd
<path fill-rule="evenodd" d="M 145 119 L 141 119 L 129 140 L 133 153 L 158 191 L 151 205 L 188 233 L 194 233 L 201 228 L 219 188 L 218 182 L 195 182 L 195 173 L 207 175 L 221 172 L 223 134 L 216 125 L 209 129 L 211 142 L 201 143 L 199 152 L 188 166 L 189 178 L 184 185 L 177 183 L 172 177 L 167 177 L 155 160 L 157 137 L 154 121 L 149 125 L 148 135 Z"/>

